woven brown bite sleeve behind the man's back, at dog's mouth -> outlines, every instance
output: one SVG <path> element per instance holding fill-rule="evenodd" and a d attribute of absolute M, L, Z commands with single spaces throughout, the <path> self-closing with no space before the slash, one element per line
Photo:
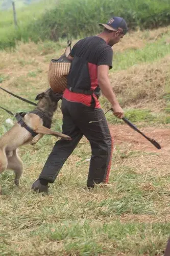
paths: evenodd
<path fill-rule="evenodd" d="M 62 93 L 67 87 L 67 75 L 71 61 L 67 59 L 71 51 L 71 42 L 67 42 L 64 54 L 59 59 L 52 59 L 48 70 L 48 82 L 54 93 Z"/>

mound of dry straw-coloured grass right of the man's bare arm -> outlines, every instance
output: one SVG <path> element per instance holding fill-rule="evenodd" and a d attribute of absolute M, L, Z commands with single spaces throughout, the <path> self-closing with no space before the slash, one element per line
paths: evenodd
<path fill-rule="evenodd" d="M 141 108 L 155 102 L 156 110 L 162 109 L 170 82 L 169 61 L 170 55 L 156 63 L 138 65 L 116 75 L 111 73 L 113 90 L 122 99 L 123 106 Z"/>

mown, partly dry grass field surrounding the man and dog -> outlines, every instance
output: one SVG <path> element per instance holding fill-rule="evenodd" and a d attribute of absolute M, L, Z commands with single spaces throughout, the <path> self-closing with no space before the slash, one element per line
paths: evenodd
<path fill-rule="evenodd" d="M 13 52 L 2 51 L 1 86 L 34 101 L 48 87 L 50 59 L 60 56 L 65 45 L 29 42 Z M 0 179 L 1 255 L 163 255 L 170 230 L 170 27 L 126 35 L 113 50 L 110 79 L 125 114 L 162 149 L 108 113 L 114 136 L 109 185 L 83 189 L 90 158 L 90 145 L 83 138 L 50 186 L 50 195 L 43 196 L 34 194 L 31 185 L 56 138 L 44 136 L 35 146 L 21 147 L 20 188 L 13 185 L 10 170 Z M 0 99 L 13 112 L 33 109 L 5 92 Z M 100 100 L 109 109 L 107 100 Z M 1 135 L 11 127 L 8 118 L 1 110 Z M 61 131 L 61 126 L 59 108 L 53 129 Z"/>

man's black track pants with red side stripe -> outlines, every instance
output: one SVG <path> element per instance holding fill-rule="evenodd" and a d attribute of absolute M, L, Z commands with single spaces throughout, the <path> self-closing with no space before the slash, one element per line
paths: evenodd
<path fill-rule="evenodd" d="M 112 138 L 102 109 L 93 109 L 78 102 L 70 102 L 63 98 L 63 134 L 71 141 L 60 139 L 56 142 L 52 153 L 42 169 L 39 178 L 53 183 L 64 162 L 74 151 L 84 135 L 91 145 L 91 160 L 87 186 L 107 182 L 110 172 L 112 154 Z M 90 121 L 98 121 L 89 123 Z"/>

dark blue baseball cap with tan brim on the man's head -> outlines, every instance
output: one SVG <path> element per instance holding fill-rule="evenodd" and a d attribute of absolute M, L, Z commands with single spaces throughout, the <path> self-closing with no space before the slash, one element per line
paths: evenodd
<path fill-rule="evenodd" d="M 123 30 L 123 34 L 126 34 L 128 32 L 128 26 L 126 24 L 126 21 L 121 17 L 112 17 L 111 19 L 109 19 L 108 23 L 100 23 L 99 25 L 111 31 L 117 31 L 120 28 Z"/>

